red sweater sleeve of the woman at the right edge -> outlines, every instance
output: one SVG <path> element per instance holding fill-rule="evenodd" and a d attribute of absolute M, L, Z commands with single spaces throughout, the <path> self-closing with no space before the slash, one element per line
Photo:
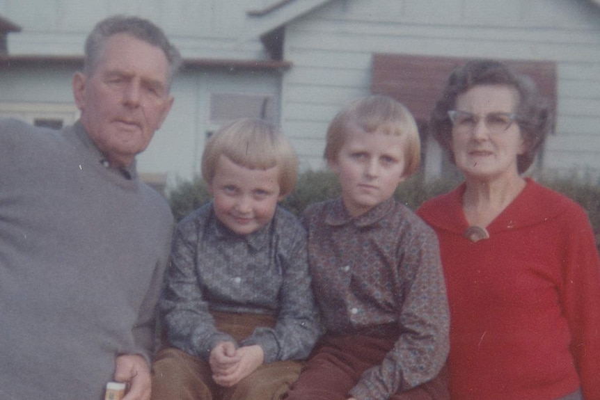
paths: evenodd
<path fill-rule="evenodd" d="M 594 233 L 582 209 L 565 215 L 561 301 L 586 400 L 600 399 L 600 262 Z"/>

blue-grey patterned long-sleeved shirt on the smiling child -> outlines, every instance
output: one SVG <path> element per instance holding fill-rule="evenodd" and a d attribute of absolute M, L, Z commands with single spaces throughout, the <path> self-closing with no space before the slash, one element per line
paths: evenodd
<path fill-rule="evenodd" d="M 319 326 L 305 230 L 277 207 L 271 223 L 240 236 L 219 222 L 212 202 L 200 207 L 177 226 L 160 306 L 170 344 L 203 360 L 217 342 L 235 342 L 211 312 L 274 315 L 274 328 L 257 328 L 242 345 L 259 344 L 265 362 L 306 358 Z"/>

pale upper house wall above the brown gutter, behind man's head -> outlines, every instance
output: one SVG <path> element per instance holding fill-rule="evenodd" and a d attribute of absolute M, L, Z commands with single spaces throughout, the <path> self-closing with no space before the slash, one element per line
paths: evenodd
<path fill-rule="evenodd" d="M 81 54 L 93 25 L 113 14 L 156 22 L 186 58 L 260 59 L 259 38 L 244 38 L 246 11 L 265 0 L 0 0 L 0 15 L 22 26 L 10 54 Z"/>

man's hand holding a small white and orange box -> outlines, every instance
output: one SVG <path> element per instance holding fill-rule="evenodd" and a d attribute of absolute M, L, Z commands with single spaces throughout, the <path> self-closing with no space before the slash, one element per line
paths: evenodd
<path fill-rule="evenodd" d="M 115 360 L 114 380 L 127 383 L 128 391 L 123 400 L 150 400 L 150 367 L 141 355 L 119 355 Z"/>

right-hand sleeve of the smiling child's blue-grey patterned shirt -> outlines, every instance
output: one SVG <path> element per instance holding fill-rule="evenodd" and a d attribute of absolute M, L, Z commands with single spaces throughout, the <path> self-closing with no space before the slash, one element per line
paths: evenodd
<path fill-rule="evenodd" d="M 293 237 L 280 238 L 277 247 L 276 262 L 283 273 L 283 286 L 276 325 L 257 328 L 242 343 L 259 344 L 265 351 L 265 362 L 306 358 L 319 335 L 304 231 L 299 229 Z"/>

